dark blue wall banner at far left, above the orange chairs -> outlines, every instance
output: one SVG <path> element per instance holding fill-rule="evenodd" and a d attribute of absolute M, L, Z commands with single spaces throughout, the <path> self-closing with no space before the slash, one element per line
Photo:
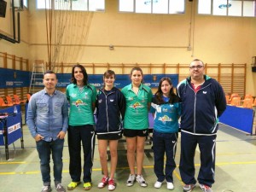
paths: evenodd
<path fill-rule="evenodd" d="M 0 68 L 0 88 L 29 87 L 29 72 Z"/>

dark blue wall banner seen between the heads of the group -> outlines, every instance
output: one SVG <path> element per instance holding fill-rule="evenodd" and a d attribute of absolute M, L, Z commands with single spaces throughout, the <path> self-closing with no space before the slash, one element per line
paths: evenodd
<path fill-rule="evenodd" d="M 160 79 L 163 77 L 168 77 L 172 79 L 172 84 L 177 87 L 178 84 L 178 74 L 145 74 L 143 75 L 144 84 L 151 88 L 156 88 L 159 85 Z M 71 74 L 70 73 L 58 73 L 58 84 L 57 87 L 65 88 L 70 84 Z M 96 86 L 96 88 L 101 88 L 103 86 L 103 76 L 99 74 L 88 75 L 88 81 L 90 84 Z M 114 82 L 114 86 L 118 88 L 125 87 L 125 85 L 131 84 L 130 75 L 127 74 L 117 74 Z"/>

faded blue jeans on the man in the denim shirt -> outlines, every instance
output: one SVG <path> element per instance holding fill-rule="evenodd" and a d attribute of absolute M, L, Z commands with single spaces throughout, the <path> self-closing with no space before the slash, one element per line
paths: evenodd
<path fill-rule="evenodd" d="M 54 163 L 55 184 L 61 183 L 62 178 L 62 152 L 64 139 L 56 139 L 55 141 L 45 142 L 41 140 L 37 142 L 37 149 L 40 159 L 40 169 L 44 185 L 50 185 L 50 154 Z"/>

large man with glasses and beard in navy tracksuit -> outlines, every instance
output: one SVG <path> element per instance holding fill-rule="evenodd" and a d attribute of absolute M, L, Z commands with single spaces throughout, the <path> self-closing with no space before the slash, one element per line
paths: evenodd
<path fill-rule="evenodd" d="M 212 192 L 218 117 L 224 113 L 224 90 L 215 79 L 204 75 L 204 63 L 190 63 L 190 77 L 177 85 L 182 100 L 180 175 L 184 192 L 195 188 L 195 148 L 199 145 L 201 167 L 197 177 L 202 191 Z"/>

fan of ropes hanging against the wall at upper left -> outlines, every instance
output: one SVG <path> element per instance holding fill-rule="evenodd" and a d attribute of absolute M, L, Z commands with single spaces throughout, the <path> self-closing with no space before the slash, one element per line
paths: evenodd
<path fill-rule="evenodd" d="M 49 69 L 59 71 L 55 63 L 78 62 L 81 45 L 86 44 L 93 12 L 71 11 L 73 1 L 49 1 L 45 9 Z"/>

